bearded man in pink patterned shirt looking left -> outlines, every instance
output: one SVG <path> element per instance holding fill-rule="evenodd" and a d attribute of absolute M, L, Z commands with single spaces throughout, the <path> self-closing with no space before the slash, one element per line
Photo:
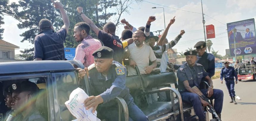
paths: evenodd
<path fill-rule="evenodd" d="M 101 42 L 93 39 L 89 32 L 90 26 L 85 22 L 79 22 L 74 27 L 74 38 L 77 42 L 81 42 L 76 48 L 76 56 L 74 59 L 82 62 L 85 67 L 94 63 L 92 54 L 102 46 Z"/>

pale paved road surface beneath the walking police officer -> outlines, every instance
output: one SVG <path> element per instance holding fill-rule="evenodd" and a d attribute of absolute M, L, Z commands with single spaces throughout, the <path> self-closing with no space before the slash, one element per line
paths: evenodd
<path fill-rule="evenodd" d="M 238 81 L 238 84 L 235 84 L 235 94 L 241 98 L 236 99 L 237 105 L 229 103 L 230 96 L 226 84 L 221 84 L 220 79 L 214 79 L 213 85 L 224 92 L 222 121 L 256 121 L 256 81 Z"/>

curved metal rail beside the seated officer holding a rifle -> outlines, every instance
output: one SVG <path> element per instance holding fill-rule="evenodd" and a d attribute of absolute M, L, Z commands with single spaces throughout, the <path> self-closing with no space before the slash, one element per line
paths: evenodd
<path fill-rule="evenodd" d="M 157 93 L 157 92 L 165 92 L 165 91 L 172 91 L 177 96 L 178 103 L 179 103 L 180 121 L 184 121 L 183 108 L 182 108 L 183 107 L 182 106 L 182 99 L 181 99 L 181 95 L 179 94 L 179 92 L 176 89 L 171 88 L 171 87 L 164 87 L 164 88 L 161 88 L 161 89 L 155 89 L 155 90 L 152 90 L 152 91 L 148 91 L 148 92 L 146 92 L 146 94 L 154 94 L 154 93 Z M 173 99 L 174 97 L 171 97 L 171 98 Z M 173 109 L 174 109 L 174 100 L 171 100 L 171 103 L 172 103 Z"/>

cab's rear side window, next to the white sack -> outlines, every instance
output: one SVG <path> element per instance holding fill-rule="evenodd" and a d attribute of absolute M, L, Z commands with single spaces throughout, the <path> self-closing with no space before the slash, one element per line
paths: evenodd
<path fill-rule="evenodd" d="M 79 87 L 75 72 L 52 73 L 53 82 L 56 82 L 57 98 L 60 111 L 60 118 L 64 121 L 76 119 L 65 106 L 71 92 Z"/>

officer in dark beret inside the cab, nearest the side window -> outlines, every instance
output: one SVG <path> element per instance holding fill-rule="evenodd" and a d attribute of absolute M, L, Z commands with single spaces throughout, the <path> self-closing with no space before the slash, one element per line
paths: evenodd
<path fill-rule="evenodd" d="M 35 109 L 35 99 L 38 91 L 37 85 L 31 81 L 12 84 L 13 102 L 11 104 L 13 114 L 10 114 L 14 117 L 12 121 L 45 121 L 40 112 Z M 11 118 L 10 115 L 8 118 Z"/>

